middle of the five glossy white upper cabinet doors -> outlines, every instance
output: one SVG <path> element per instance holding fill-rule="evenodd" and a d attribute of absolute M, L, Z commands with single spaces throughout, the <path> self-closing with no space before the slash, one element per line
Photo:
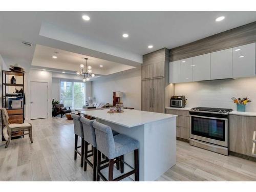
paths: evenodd
<path fill-rule="evenodd" d="M 193 81 L 210 79 L 210 53 L 193 57 Z"/>

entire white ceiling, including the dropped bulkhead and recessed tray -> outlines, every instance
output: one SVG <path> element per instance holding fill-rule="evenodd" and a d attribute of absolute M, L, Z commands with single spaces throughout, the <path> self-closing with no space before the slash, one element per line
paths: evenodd
<path fill-rule="evenodd" d="M 83 14 L 90 16 L 88 22 L 81 18 Z M 225 19 L 215 22 L 222 15 Z M 140 66 L 143 54 L 178 47 L 255 20 L 256 11 L 0 12 L 0 54 L 7 65 L 20 63 L 28 70 L 31 63 L 39 66 L 36 59 L 51 60 L 52 51 L 59 50 L 65 53 L 59 58 L 62 63 L 77 66 L 86 55 L 92 65 L 95 63 L 95 70 L 99 62 L 105 63 L 105 72 L 99 74 L 111 74 L 108 70 L 117 66 Z M 123 33 L 129 37 L 123 38 Z M 33 45 L 26 47 L 22 41 Z M 154 47 L 148 49 L 148 45 Z"/>

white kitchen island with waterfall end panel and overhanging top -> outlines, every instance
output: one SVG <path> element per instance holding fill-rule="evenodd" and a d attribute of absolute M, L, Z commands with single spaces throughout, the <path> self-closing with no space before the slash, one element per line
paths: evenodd
<path fill-rule="evenodd" d="M 154 181 L 176 164 L 177 115 L 125 109 L 115 114 L 108 111 L 82 111 L 81 114 L 95 117 L 96 121 L 139 141 L 140 181 Z M 133 156 L 133 153 L 124 155 L 124 161 L 132 167 Z M 129 170 L 130 167 L 124 164 L 124 173 Z"/>

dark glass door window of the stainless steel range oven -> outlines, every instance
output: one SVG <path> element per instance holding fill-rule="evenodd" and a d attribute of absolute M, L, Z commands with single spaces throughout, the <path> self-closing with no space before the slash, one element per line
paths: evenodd
<path fill-rule="evenodd" d="M 191 134 L 225 141 L 225 120 L 191 117 Z"/>

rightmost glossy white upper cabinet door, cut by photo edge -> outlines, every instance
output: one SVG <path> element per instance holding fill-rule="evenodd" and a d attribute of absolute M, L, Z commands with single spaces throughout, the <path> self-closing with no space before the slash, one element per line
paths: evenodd
<path fill-rule="evenodd" d="M 233 78 L 255 76 L 255 42 L 233 49 Z"/>

